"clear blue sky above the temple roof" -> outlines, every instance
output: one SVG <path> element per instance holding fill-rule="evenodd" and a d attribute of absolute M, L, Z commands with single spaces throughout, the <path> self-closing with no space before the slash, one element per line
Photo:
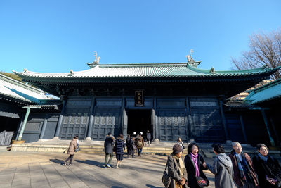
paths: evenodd
<path fill-rule="evenodd" d="M 0 70 L 67 73 L 100 64 L 173 63 L 230 70 L 254 32 L 281 27 L 281 1 L 0 0 Z"/>

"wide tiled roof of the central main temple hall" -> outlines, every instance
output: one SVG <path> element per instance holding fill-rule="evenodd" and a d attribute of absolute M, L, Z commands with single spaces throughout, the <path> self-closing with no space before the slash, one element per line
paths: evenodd
<path fill-rule="evenodd" d="M 139 63 L 139 64 L 107 64 L 96 65 L 89 70 L 72 71 L 70 73 L 36 73 L 24 70 L 22 73 L 13 71 L 22 80 L 52 82 L 79 82 L 79 80 L 107 79 L 144 79 L 144 78 L 217 78 L 241 77 L 248 75 L 271 75 L 279 68 L 256 68 L 251 70 L 216 71 L 214 68 L 204 70 L 188 63 Z"/>

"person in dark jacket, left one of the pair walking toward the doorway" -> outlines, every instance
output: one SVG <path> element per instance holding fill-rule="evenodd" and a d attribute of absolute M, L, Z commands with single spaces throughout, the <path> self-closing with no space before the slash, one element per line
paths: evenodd
<path fill-rule="evenodd" d="M 115 137 L 111 135 L 111 132 L 108 132 L 105 138 L 105 168 L 111 168 L 111 161 L 113 158 L 113 146 L 115 145 Z M 108 160 L 108 156 L 110 159 Z"/>

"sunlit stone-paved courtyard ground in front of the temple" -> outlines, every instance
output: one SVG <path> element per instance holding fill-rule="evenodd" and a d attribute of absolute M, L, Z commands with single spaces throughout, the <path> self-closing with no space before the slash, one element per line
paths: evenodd
<path fill-rule="evenodd" d="M 0 187 L 163 187 L 161 182 L 166 156 L 143 155 L 126 158 L 120 168 L 103 168 L 101 154 L 75 153 L 72 166 L 61 165 L 63 153 L 0 152 Z M 124 155 L 126 156 L 126 155 Z M 207 161 L 212 161 L 209 158 Z M 214 175 L 205 171 L 209 187 Z"/>

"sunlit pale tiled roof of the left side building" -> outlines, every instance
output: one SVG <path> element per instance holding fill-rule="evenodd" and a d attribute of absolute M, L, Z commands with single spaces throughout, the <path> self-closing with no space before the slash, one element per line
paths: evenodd
<path fill-rule="evenodd" d="M 37 104 L 41 99 L 48 99 L 41 89 L 31 87 L 11 77 L 0 74 L 0 97 L 9 101 Z"/>

